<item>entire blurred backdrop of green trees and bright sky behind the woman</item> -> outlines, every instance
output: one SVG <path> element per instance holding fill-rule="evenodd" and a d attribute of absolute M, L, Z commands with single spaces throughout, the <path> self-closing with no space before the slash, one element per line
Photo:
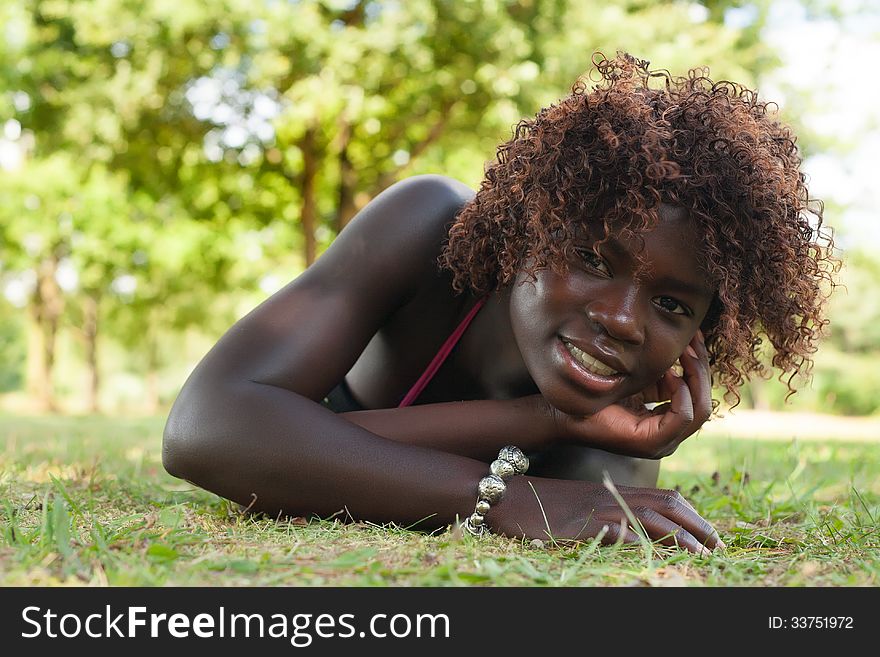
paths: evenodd
<path fill-rule="evenodd" d="M 845 266 L 812 381 L 880 413 L 880 7 L 834 0 L 0 0 L 0 410 L 162 414 L 372 197 L 476 188 L 594 51 L 757 87 Z"/>

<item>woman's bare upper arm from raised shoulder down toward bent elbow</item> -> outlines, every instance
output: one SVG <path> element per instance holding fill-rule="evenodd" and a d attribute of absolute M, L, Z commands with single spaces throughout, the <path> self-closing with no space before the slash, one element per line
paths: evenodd
<path fill-rule="evenodd" d="M 320 399 L 436 277 L 449 225 L 472 197 L 444 176 L 392 185 L 312 266 L 227 331 L 187 386 L 211 390 L 215 381 L 247 380 Z"/>

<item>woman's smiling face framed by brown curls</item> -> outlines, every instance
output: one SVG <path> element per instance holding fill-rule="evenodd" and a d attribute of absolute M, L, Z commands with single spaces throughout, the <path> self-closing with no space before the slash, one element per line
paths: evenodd
<path fill-rule="evenodd" d="M 642 240 L 611 239 L 596 255 L 584 238 L 566 275 L 542 269 L 534 282 L 520 275 L 511 290 L 523 361 L 547 401 L 565 413 L 596 413 L 655 383 L 709 309 L 714 291 L 686 213 L 661 205 L 657 226 Z"/>

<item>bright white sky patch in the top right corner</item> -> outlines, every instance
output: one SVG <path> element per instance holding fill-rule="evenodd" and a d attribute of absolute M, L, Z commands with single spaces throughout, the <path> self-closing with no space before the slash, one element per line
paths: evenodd
<path fill-rule="evenodd" d="M 783 110 L 788 103 L 804 108 L 805 127 L 827 144 L 808 157 L 804 170 L 810 191 L 833 204 L 828 219 L 846 248 L 880 244 L 880 86 L 874 79 L 880 5 L 844 0 L 839 6 L 843 17 L 835 21 L 809 17 L 794 0 L 773 3 L 765 36 L 783 66 L 762 91 L 779 98 Z"/>

